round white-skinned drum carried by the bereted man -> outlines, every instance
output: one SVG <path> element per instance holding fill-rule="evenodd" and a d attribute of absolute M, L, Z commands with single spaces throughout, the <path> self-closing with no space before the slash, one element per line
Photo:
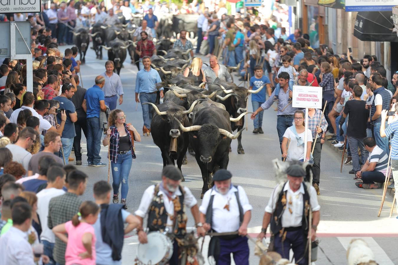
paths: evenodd
<path fill-rule="evenodd" d="M 161 232 L 148 233 L 148 243 L 139 244 L 137 259 L 143 265 L 164 265 L 173 255 L 173 242 Z"/>

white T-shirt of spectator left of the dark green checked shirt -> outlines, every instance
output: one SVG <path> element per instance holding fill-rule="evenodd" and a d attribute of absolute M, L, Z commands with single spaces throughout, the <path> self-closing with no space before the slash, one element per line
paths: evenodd
<path fill-rule="evenodd" d="M 62 189 L 49 188 L 43 189 L 37 196 L 37 215 L 40 218 L 41 224 L 41 235 L 40 240 L 47 240 L 50 243 L 55 243 L 55 235 L 53 231 L 47 226 L 47 217 L 49 215 L 49 204 L 50 200 L 54 197 L 64 194 L 65 191 Z"/>

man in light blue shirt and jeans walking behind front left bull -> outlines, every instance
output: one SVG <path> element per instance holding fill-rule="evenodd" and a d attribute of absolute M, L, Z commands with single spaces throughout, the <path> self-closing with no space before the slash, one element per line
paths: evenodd
<path fill-rule="evenodd" d="M 149 56 L 142 58 L 142 64 L 144 69 L 137 73 L 137 79 L 135 81 L 135 101 L 141 102 L 142 107 L 142 118 L 144 119 L 144 126 L 142 127 L 142 133 L 149 135 L 150 133 L 150 122 L 152 120 L 152 106 L 150 104 L 142 103 L 153 103 L 156 101 L 156 83 L 161 82 L 158 71 L 150 67 L 151 60 Z M 163 99 L 163 87 L 160 90 L 160 98 Z"/>

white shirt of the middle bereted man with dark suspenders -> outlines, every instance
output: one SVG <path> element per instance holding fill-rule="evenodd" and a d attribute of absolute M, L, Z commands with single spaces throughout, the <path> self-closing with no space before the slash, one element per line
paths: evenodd
<path fill-rule="evenodd" d="M 206 215 L 207 207 L 209 207 L 210 197 L 211 195 L 214 195 L 211 228 L 218 233 L 235 232 L 239 229 L 240 219 L 238 201 L 236 201 L 235 195 L 236 191 L 239 193 L 239 201 L 242 205 L 243 214 L 247 211 L 251 211 L 253 207 L 250 205 L 248 196 L 241 186 L 238 186 L 237 189 L 232 186 L 225 195 L 222 195 L 216 191 L 215 187 L 213 187 L 203 195 L 202 205 L 199 207 L 199 211 L 204 215 Z M 228 201 L 229 211 L 224 209 L 225 205 L 228 204 Z"/>

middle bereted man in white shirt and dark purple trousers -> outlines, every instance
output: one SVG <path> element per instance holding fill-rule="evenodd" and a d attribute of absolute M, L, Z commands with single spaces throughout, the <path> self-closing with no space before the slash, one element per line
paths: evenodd
<path fill-rule="evenodd" d="M 235 264 L 248 265 L 249 246 L 246 234 L 253 207 L 244 189 L 233 185 L 231 178 L 231 172 L 226 169 L 215 172 L 214 186 L 206 191 L 199 207 L 201 222 L 206 231 L 237 231 L 232 235 L 212 237 L 209 252 L 217 261 L 217 265 L 230 265 L 231 253 L 234 255 Z"/>

